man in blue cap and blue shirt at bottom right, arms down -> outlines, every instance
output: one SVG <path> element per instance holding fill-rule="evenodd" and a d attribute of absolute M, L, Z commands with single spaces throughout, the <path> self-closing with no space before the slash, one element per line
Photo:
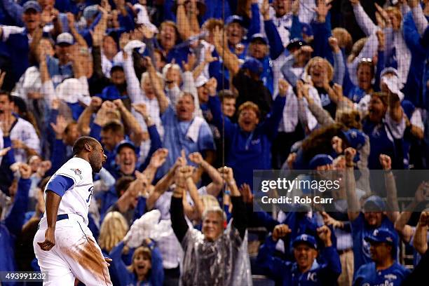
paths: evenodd
<path fill-rule="evenodd" d="M 400 286 L 410 271 L 395 259 L 397 236 L 389 229 L 380 228 L 374 229 L 365 240 L 371 245 L 369 251 L 373 262 L 360 266 L 353 285 Z"/>

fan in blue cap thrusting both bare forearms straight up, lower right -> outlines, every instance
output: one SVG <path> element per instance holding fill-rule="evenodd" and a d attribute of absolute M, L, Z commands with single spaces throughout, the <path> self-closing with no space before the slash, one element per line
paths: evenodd
<path fill-rule="evenodd" d="M 355 177 L 353 174 L 353 159 L 355 157 L 355 149 L 349 147 L 345 151 L 346 156 L 346 193 L 348 205 L 348 219 L 351 222 L 352 236 L 353 236 L 353 254 L 354 254 L 354 267 L 355 271 L 360 266 L 372 261 L 370 245 L 367 236 L 370 236 L 376 229 L 388 229 L 395 236 L 393 240 L 393 251 L 397 254 L 398 241 L 397 233 L 395 231 L 395 222 L 399 216 L 395 178 L 390 172 L 390 158 L 386 155 L 381 156 L 380 161 L 385 166 L 386 174 L 385 182 L 388 187 L 387 200 L 388 205 L 393 206 L 394 209 L 388 210 L 386 203 L 379 196 L 369 196 L 360 207 L 360 200 L 357 198 Z M 396 205 L 396 207 L 395 207 Z M 395 255 L 396 256 L 396 255 Z M 356 273 L 356 272 L 355 272 Z"/>

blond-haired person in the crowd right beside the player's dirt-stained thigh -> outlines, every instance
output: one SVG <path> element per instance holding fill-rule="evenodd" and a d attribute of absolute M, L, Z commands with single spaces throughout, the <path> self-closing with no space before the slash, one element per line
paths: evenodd
<path fill-rule="evenodd" d="M 128 229 L 128 223 L 120 212 L 109 212 L 106 214 L 100 227 L 100 236 L 98 237 L 98 244 L 102 249 L 104 257 L 109 257 L 109 252 L 111 252 L 116 244 L 123 240 Z M 119 259 L 131 264 L 132 252 L 129 251 L 128 247 L 123 247 L 121 254 L 122 257 L 120 255 Z M 113 285 L 119 285 L 120 276 L 116 269 L 110 266 L 109 273 Z"/>

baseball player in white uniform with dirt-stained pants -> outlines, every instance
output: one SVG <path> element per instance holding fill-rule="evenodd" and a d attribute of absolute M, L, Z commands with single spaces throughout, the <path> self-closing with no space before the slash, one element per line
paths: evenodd
<path fill-rule="evenodd" d="M 93 194 L 93 172 L 106 161 L 103 148 L 92 137 L 80 137 L 73 158 L 55 172 L 45 188 L 45 214 L 33 247 L 43 285 L 74 286 L 75 278 L 86 286 L 112 285 L 108 262 L 88 229 L 88 209 Z"/>

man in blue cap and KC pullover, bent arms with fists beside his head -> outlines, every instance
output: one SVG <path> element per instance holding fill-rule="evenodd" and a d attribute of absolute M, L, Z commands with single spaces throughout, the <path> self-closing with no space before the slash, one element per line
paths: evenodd
<path fill-rule="evenodd" d="M 295 262 L 284 261 L 274 256 L 275 244 L 279 238 L 287 236 L 291 230 L 280 224 L 275 226 L 273 234 L 266 238 L 261 246 L 257 262 L 266 271 L 269 278 L 281 281 L 281 285 L 336 285 L 341 273 L 338 252 L 332 246 L 331 230 L 327 226 L 318 229 L 318 236 L 323 243 L 318 252 L 318 245 L 313 236 L 306 233 L 297 236 L 294 247 Z M 320 255 L 320 262 L 316 260 Z"/>

